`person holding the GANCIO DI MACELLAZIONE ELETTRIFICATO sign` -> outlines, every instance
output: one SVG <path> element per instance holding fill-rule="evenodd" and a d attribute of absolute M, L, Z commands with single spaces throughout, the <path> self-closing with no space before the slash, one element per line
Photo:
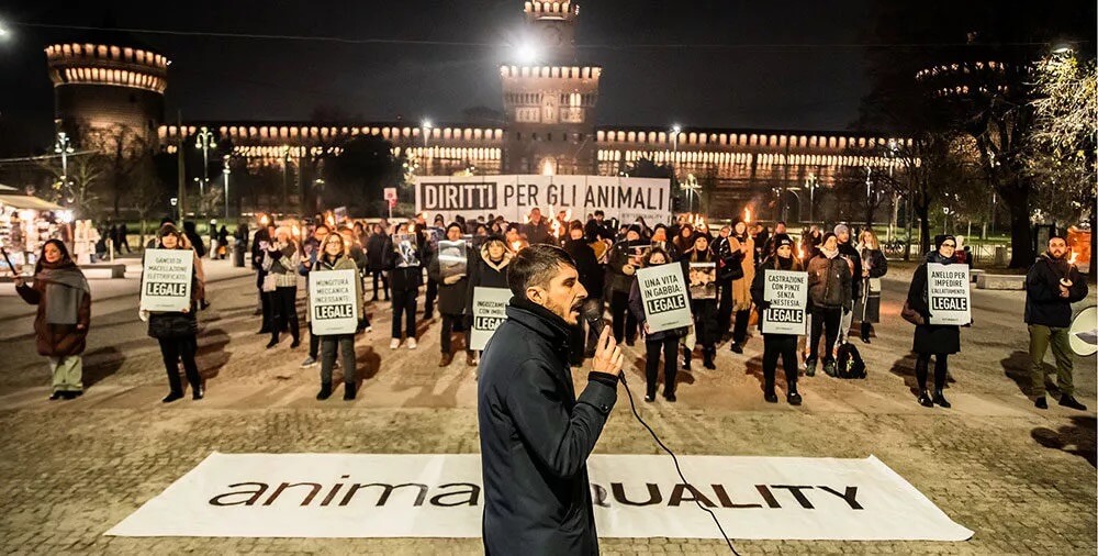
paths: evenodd
<path fill-rule="evenodd" d="M 160 227 L 156 248 L 158 249 L 188 249 L 183 241 L 183 234 L 176 226 L 165 224 Z M 194 259 L 198 254 L 191 251 Z M 142 291 L 145 289 L 145 279 L 142 276 Z M 164 368 L 168 374 L 168 396 L 161 400 L 164 403 L 173 402 L 183 397 L 183 386 L 179 380 L 179 363 L 182 362 L 183 370 L 187 372 L 187 381 L 191 385 L 191 398 L 201 400 L 205 396 L 202 386 L 202 375 L 199 374 L 198 364 L 194 356 L 198 354 L 198 332 L 199 322 L 195 316 L 199 300 L 204 297 L 204 283 L 198 275 L 198 268 L 191 270 L 191 303 L 182 311 L 141 311 L 142 319 L 148 320 L 148 335 L 155 337 L 160 344 L 160 355 L 164 358 Z"/>

